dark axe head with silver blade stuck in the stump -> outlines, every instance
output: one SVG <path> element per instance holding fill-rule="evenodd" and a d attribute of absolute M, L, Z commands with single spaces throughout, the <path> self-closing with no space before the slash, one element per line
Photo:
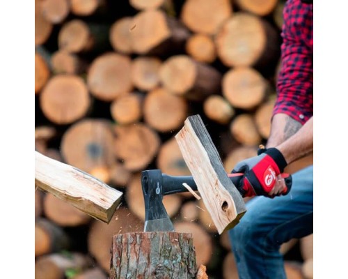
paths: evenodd
<path fill-rule="evenodd" d="M 163 178 L 161 170 L 141 172 L 141 187 L 145 202 L 144 232 L 174 232 L 174 226 L 163 204 Z"/>

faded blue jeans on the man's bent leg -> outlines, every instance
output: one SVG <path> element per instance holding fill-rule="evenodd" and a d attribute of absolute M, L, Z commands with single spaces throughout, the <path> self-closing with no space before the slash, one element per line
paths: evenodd
<path fill-rule="evenodd" d="M 286 196 L 254 197 L 228 232 L 240 279 L 286 278 L 280 245 L 313 233 L 313 165 L 292 174 Z"/>

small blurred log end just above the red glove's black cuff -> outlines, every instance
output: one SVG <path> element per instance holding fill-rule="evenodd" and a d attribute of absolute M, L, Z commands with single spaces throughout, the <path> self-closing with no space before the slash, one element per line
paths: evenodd
<path fill-rule="evenodd" d="M 230 132 L 233 137 L 244 145 L 255 146 L 261 144 L 261 136 L 252 114 L 238 114 L 230 123 Z"/>

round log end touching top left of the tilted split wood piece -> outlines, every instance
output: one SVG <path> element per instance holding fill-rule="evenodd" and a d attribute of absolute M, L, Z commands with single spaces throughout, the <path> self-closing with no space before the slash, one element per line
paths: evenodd
<path fill-rule="evenodd" d="M 182 126 L 187 117 L 187 100 L 159 87 L 145 96 L 143 114 L 148 126 L 160 133 L 173 132 Z"/>

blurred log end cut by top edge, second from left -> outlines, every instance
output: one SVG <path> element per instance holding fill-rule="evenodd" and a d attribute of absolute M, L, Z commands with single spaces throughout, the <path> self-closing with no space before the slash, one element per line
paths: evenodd
<path fill-rule="evenodd" d="M 70 12 L 81 17 L 94 15 L 98 10 L 105 8 L 105 0 L 70 0 Z"/>

